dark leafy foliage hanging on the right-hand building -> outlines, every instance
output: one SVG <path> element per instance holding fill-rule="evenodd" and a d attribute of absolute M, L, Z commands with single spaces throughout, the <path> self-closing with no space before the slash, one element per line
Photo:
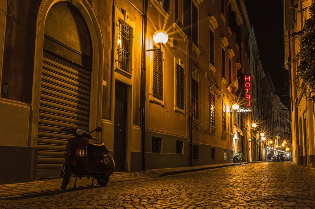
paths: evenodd
<path fill-rule="evenodd" d="M 315 2 L 299 12 L 304 13 L 305 10 L 310 13 L 310 18 L 305 20 L 301 31 L 286 35 L 300 42 L 300 51 L 287 65 L 297 63 L 296 76 L 293 78 L 294 82 L 300 84 L 297 90 L 308 90 L 311 95 L 309 99 L 315 102 Z"/>

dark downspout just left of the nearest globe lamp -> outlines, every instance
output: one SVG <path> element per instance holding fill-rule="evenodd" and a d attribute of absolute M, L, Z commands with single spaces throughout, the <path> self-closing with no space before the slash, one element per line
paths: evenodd
<path fill-rule="evenodd" d="M 140 76 L 140 97 L 141 97 L 141 170 L 145 170 L 145 142 L 146 142 L 146 25 L 147 25 L 148 1 L 143 0 L 142 17 L 142 52 L 141 52 L 141 76 Z"/>

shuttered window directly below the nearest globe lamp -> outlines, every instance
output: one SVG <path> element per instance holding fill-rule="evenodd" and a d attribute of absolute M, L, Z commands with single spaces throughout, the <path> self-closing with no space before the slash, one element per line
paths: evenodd
<path fill-rule="evenodd" d="M 154 46 L 157 48 L 157 46 Z M 152 95 L 163 99 L 163 51 L 153 51 L 153 86 Z"/>

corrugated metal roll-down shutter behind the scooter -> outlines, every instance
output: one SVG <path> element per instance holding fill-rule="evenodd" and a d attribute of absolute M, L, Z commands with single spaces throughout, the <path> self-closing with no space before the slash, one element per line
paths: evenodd
<path fill-rule="evenodd" d="M 44 50 L 38 122 L 37 178 L 59 176 L 71 138 L 60 127 L 89 130 L 91 71 Z"/>

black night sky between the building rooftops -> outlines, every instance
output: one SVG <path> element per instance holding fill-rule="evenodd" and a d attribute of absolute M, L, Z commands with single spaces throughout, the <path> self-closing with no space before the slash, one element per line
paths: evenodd
<path fill-rule="evenodd" d="M 282 0 L 245 0 L 254 27 L 261 63 L 273 80 L 281 101 L 289 107 L 289 72 L 284 68 Z"/>

